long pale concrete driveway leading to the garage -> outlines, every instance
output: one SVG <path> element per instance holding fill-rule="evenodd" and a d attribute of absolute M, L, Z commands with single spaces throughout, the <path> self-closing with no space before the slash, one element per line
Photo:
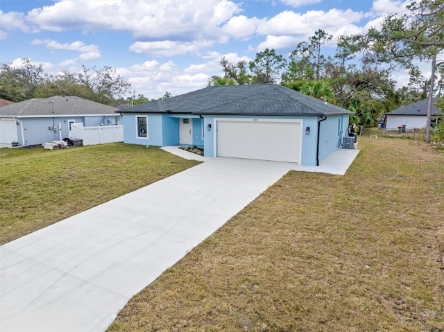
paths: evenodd
<path fill-rule="evenodd" d="M 346 170 L 356 155 L 345 151 L 322 169 Z M 298 168 L 205 160 L 2 245 L 0 331 L 104 331 L 133 295 Z"/>

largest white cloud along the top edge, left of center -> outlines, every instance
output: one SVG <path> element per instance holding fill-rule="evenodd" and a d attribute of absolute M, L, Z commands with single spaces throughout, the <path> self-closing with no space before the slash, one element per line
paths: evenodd
<path fill-rule="evenodd" d="M 60 0 L 31 10 L 28 20 L 52 31 L 119 30 L 139 38 L 182 35 L 194 40 L 214 35 L 219 25 L 240 12 L 239 6 L 229 0 Z"/>

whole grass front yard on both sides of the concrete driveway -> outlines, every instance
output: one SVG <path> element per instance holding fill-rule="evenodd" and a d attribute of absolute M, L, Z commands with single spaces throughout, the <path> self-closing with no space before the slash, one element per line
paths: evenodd
<path fill-rule="evenodd" d="M 133 297 L 109 331 L 444 331 L 444 155 L 359 137 L 290 172 Z M 0 149 L 0 241 L 198 164 L 107 144 Z"/>

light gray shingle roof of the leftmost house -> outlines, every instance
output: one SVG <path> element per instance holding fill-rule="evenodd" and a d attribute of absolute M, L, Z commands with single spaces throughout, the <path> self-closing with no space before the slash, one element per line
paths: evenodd
<path fill-rule="evenodd" d="M 53 96 L 51 98 L 33 98 L 0 107 L 0 116 L 108 115 L 115 114 L 117 110 L 117 107 L 79 97 Z"/>

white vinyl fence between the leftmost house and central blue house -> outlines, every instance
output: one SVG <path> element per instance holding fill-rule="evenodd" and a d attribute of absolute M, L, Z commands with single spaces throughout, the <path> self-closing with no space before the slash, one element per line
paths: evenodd
<path fill-rule="evenodd" d="M 123 125 L 97 125 L 83 127 L 83 123 L 71 125 L 70 138 L 83 139 L 84 146 L 123 142 Z"/>

